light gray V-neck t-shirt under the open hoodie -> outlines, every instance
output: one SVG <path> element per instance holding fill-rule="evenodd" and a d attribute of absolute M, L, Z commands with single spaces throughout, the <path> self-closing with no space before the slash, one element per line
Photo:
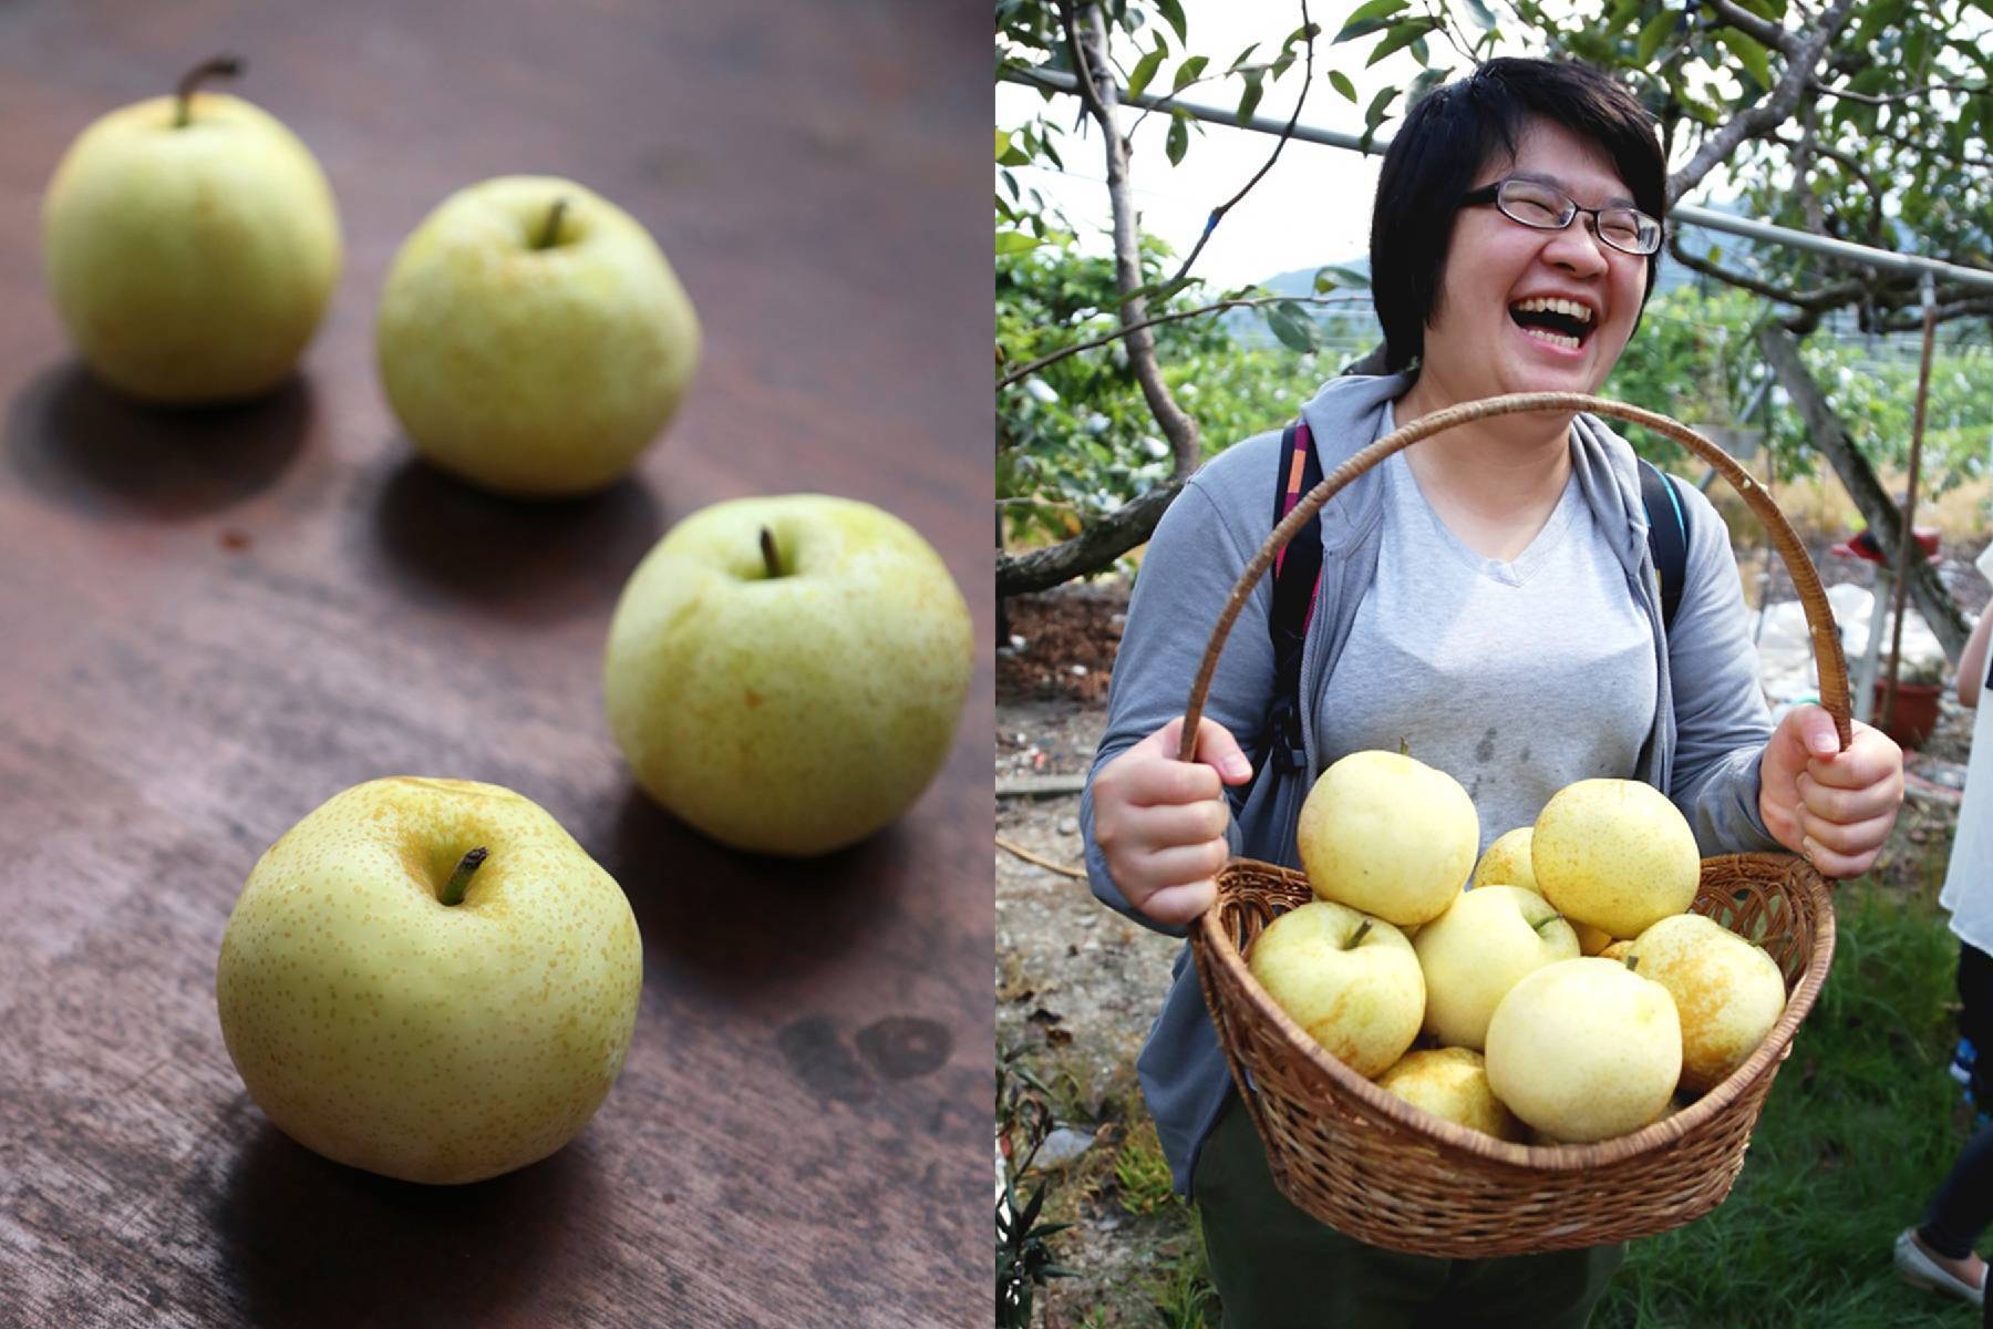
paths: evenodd
<path fill-rule="evenodd" d="M 1576 779 L 1630 779 L 1654 725 L 1654 632 L 1576 476 L 1513 562 L 1447 530 L 1403 452 L 1379 476 L 1377 578 L 1315 711 L 1315 751 L 1403 741 L 1473 797 L 1483 849 Z"/>

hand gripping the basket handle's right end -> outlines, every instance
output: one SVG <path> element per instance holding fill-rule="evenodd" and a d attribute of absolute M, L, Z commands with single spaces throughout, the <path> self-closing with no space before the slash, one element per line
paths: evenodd
<path fill-rule="evenodd" d="M 1778 721 L 1758 761 L 1758 813 L 1780 845 L 1822 877 L 1859 877 L 1875 863 L 1903 803 L 1903 749 L 1853 721 L 1840 751 L 1834 715 L 1800 705 Z"/>

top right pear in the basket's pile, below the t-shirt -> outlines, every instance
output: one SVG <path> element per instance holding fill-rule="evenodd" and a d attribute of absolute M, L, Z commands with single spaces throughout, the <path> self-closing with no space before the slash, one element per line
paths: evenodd
<path fill-rule="evenodd" d="M 1537 813 L 1529 849 L 1543 899 L 1572 923 L 1632 938 L 1686 913 L 1702 881 L 1688 819 L 1638 779 L 1580 779 Z"/>

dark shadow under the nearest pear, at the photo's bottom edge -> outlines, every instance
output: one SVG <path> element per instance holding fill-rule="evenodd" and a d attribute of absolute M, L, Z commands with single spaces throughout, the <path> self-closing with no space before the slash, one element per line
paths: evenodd
<path fill-rule="evenodd" d="M 524 1323 L 550 1265 L 598 1243 L 588 1136 L 470 1186 L 393 1182 L 319 1158 L 257 1120 L 213 1227 L 255 1325 Z M 560 1279 L 556 1279 L 558 1283 Z"/>

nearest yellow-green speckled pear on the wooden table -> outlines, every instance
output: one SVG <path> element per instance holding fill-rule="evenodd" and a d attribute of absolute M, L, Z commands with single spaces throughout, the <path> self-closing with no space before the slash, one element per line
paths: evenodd
<path fill-rule="evenodd" d="M 257 861 L 215 1008 L 283 1134 L 458 1184 L 588 1124 L 642 982 L 630 901 L 552 815 L 498 785 L 393 777 L 331 797 Z"/>

